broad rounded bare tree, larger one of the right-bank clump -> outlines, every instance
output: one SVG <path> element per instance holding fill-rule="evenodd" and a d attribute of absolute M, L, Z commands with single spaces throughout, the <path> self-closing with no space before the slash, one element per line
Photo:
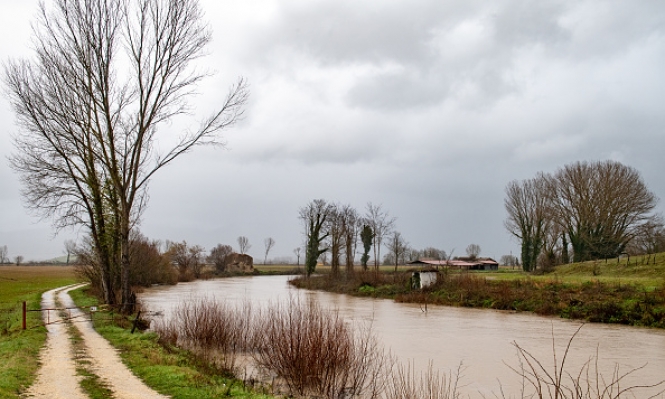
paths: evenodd
<path fill-rule="evenodd" d="M 574 262 L 618 256 L 653 217 L 656 196 L 620 162 L 576 162 L 549 181 L 553 220 L 567 233 Z"/>

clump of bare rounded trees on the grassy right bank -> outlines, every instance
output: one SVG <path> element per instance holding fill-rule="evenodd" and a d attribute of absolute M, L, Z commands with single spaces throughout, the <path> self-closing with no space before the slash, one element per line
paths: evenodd
<path fill-rule="evenodd" d="M 506 187 L 506 229 L 522 266 L 582 262 L 665 250 L 656 196 L 639 172 L 616 161 L 576 162 Z"/>

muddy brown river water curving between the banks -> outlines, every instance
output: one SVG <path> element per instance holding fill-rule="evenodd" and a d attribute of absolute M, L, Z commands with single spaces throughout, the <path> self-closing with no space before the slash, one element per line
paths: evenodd
<path fill-rule="evenodd" d="M 580 322 L 540 317 L 527 313 L 400 304 L 385 299 L 356 298 L 326 292 L 305 291 L 287 284 L 289 276 L 237 277 L 153 287 L 140 295 L 151 311 L 168 317 L 181 302 L 208 297 L 230 303 L 250 300 L 267 305 L 290 295 L 316 300 L 337 309 L 351 323 L 371 321 L 382 344 L 403 363 L 423 370 L 429 362 L 450 372 L 462 365 L 461 385 L 470 397 L 518 397 L 520 378 L 510 370 L 518 358 L 518 343 L 544 365 L 553 365 L 553 347 L 559 364 L 565 346 Z M 553 345 L 554 342 L 554 345 Z M 573 340 L 566 359 L 567 371 L 579 372 L 598 353 L 600 372 L 606 379 L 643 367 L 624 381 L 644 385 L 665 379 L 665 331 L 617 325 L 586 324 Z M 549 369 L 552 371 L 552 369 Z M 662 389 L 662 387 L 661 387 Z M 636 398 L 654 390 L 638 391 Z M 665 395 L 659 395 L 665 398 Z"/>

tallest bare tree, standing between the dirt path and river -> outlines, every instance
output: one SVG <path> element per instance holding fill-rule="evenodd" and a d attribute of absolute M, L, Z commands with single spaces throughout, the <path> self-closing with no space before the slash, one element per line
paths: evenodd
<path fill-rule="evenodd" d="M 21 134 L 12 167 L 27 205 L 56 229 L 85 226 L 115 302 L 120 270 L 123 310 L 133 306 L 130 233 L 154 174 L 242 115 L 247 84 L 234 84 L 198 127 L 157 145 L 205 74 L 192 67 L 210 41 L 196 0 L 56 0 L 41 3 L 35 57 L 5 68 Z"/>

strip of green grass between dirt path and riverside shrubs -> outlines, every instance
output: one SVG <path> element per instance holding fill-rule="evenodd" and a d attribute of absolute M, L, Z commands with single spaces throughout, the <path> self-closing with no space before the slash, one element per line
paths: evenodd
<path fill-rule="evenodd" d="M 86 288 L 72 291 L 70 295 L 79 307 L 97 305 L 97 300 Z M 272 398 L 245 388 L 242 381 L 210 368 L 187 351 L 160 345 L 154 333 L 136 331 L 132 334 L 133 316 L 127 318 L 100 311 L 93 319 L 95 329 L 120 351 L 127 367 L 162 394 L 174 399 Z"/>

